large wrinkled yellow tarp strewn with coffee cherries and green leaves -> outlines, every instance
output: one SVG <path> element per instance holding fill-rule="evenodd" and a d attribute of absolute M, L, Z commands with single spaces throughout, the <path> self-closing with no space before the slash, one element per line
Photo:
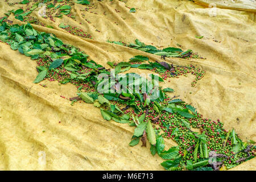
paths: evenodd
<path fill-rule="evenodd" d="M 217 8 L 216 16 L 211 16 L 210 9 L 191 1 L 94 3 L 93 13 L 82 11 L 92 23 L 81 16 L 80 10 L 85 6 L 75 4 L 72 13 L 76 21 L 63 16 L 56 18 L 54 23 L 34 12 L 34 16 L 54 29 L 36 25 L 34 28 L 52 32 L 65 43 L 81 48 L 90 59 L 106 68 L 109 68 L 107 61 L 127 61 L 135 55 L 147 56 L 151 61 L 160 60 L 160 56 L 107 43 L 108 39 L 126 43 L 139 39 L 159 48 L 176 47 L 179 43 L 183 49 L 198 52 L 207 59 L 166 58 L 168 63 L 193 64 L 206 71 L 194 88 L 191 87 L 194 78 L 191 75 L 171 78 L 162 86 L 173 88 L 175 92 L 170 96 L 179 95 L 205 118 L 219 118 L 226 130 L 234 128 L 242 140 L 256 140 L 254 13 Z M 136 13 L 129 13 L 125 5 L 135 7 Z M 1 16 L 14 7 L 1 1 Z M 9 19 L 22 23 L 12 15 Z M 82 28 L 93 39 L 69 34 L 58 27 L 60 22 Z M 163 170 L 159 166 L 163 159 L 150 154 L 149 143 L 147 148 L 141 144 L 128 145 L 134 127 L 105 121 L 93 105 L 78 102 L 71 106 L 70 101 L 60 96 L 76 96 L 75 86 L 60 86 L 49 81 L 42 82 L 47 88 L 33 84 L 38 74 L 35 61 L 13 51 L 5 43 L 0 43 L 0 51 L 1 170 Z M 131 69 L 129 72 L 145 71 Z M 165 142 L 167 148 L 176 145 L 172 140 Z M 253 170 L 255 161 L 254 158 L 233 169 Z"/>

